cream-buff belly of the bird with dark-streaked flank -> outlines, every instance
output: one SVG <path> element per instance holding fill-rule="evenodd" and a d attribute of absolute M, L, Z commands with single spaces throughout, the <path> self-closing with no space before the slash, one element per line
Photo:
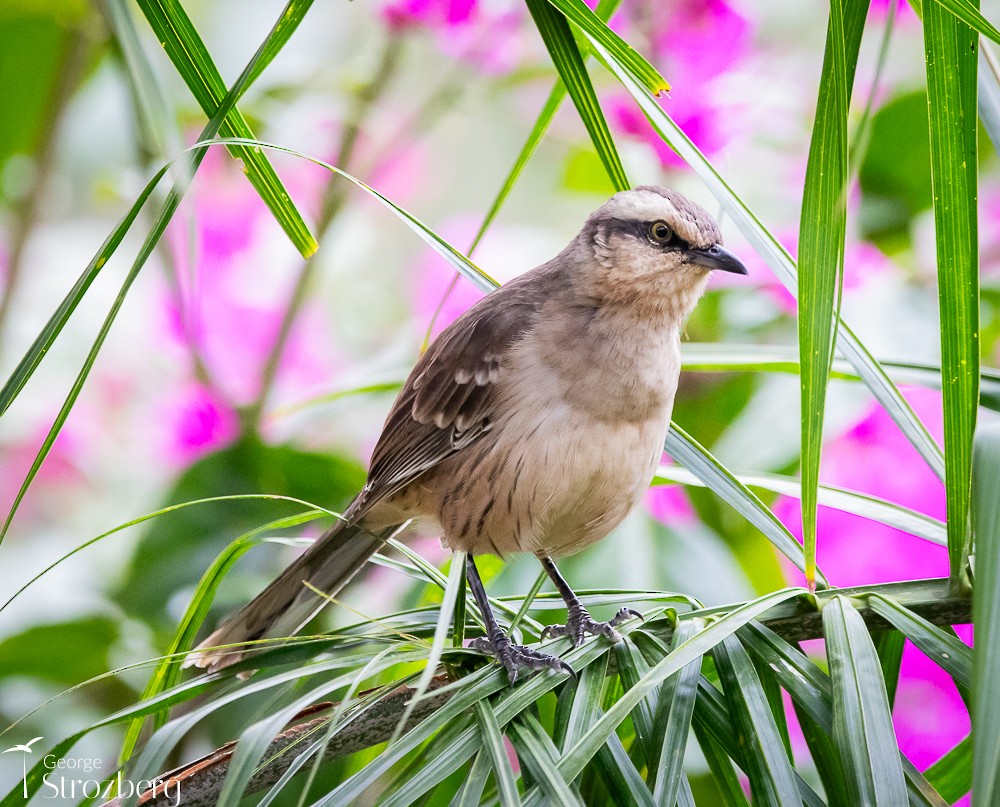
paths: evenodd
<path fill-rule="evenodd" d="M 669 412 L 658 415 L 609 424 L 566 405 L 541 417 L 513 413 L 494 429 L 504 439 L 487 436 L 454 458 L 457 473 L 438 476 L 458 480 L 440 490 L 444 542 L 474 554 L 559 557 L 600 540 L 649 485 L 669 423 Z"/>

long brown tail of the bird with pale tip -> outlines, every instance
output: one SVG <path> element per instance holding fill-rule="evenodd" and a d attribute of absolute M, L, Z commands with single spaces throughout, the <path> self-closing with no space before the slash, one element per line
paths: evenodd
<path fill-rule="evenodd" d="M 214 672 L 242 659 L 249 648 L 239 645 L 245 642 L 292 635 L 328 602 L 307 587 L 307 582 L 328 597 L 336 596 L 399 529 L 395 526 L 372 533 L 349 522 L 334 524 L 274 582 L 199 644 L 184 666 Z"/>

